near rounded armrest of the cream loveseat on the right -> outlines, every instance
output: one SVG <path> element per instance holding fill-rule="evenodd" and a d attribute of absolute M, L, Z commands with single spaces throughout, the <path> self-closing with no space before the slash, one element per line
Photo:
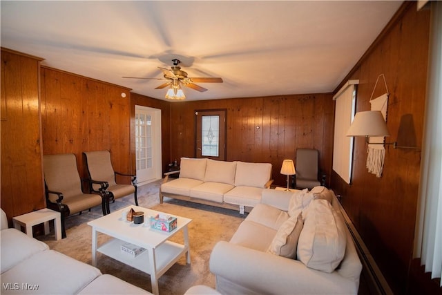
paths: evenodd
<path fill-rule="evenodd" d="M 257 264 L 258 263 L 258 264 Z M 210 270 L 258 294 L 357 294 L 358 284 L 340 276 L 309 269 L 283 258 L 220 241 L 213 248 Z"/>

